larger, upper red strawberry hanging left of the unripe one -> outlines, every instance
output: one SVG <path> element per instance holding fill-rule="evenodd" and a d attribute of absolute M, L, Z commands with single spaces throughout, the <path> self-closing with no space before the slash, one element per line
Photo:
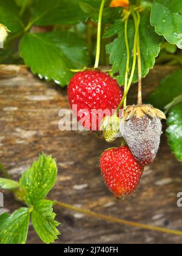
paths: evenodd
<path fill-rule="evenodd" d="M 123 98 L 123 90 L 109 74 L 96 70 L 79 72 L 73 76 L 68 88 L 70 107 L 77 105 L 77 120 L 86 118 L 83 123 L 88 130 L 100 130 L 102 119 L 106 113 L 96 113 L 96 110 L 116 110 Z M 78 113 L 80 112 L 80 115 Z M 95 118 L 95 122 L 93 122 Z"/>

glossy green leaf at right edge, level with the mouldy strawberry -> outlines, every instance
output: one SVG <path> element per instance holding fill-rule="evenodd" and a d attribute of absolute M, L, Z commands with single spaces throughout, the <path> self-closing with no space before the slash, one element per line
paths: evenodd
<path fill-rule="evenodd" d="M 166 130 L 170 148 L 175 157 L 182 162 L 182 103 L 169 112 Z"/>

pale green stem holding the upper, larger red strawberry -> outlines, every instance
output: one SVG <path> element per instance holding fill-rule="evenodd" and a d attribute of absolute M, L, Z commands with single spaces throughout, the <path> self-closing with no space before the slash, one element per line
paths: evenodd
<path fill-rule="evenodd" d="M 96 58 L 95 58 L 95 66 L 94 68 L 98 68 L 99 59 L 101 54 L 101 31 L 102 31 L 102 19 L 103 19 L 103 10 L 106 0 L 102 0 L 101 7 L 99 10 L 99 18 L 98 18 L 98 30 L 97 30 L 97 42 L 96 42 Z"/>

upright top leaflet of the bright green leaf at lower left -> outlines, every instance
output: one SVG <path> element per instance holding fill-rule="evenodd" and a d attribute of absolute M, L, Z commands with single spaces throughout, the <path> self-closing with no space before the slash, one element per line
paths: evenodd
<path fill-rule="evenodd" d="M 38 162 L 35 161 L 20 179 L 21 188 L 27 192 L 25 202 L 33 205 L 44 199 L 56 182 L 57 172 L 55 160 L 41 154 Z"/>

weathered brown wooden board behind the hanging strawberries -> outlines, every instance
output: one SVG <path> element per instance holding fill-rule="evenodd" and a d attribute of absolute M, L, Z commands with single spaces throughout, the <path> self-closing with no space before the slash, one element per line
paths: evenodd
<path fill-rule="evenodd" d="M 143 80 L 145 94 L 174 69 L 152 69 Z M 131 102 L 135 96 L 133 87 Z M 39 80 L 24 66 L 0 66 L 0 162 L 10 175 L 18 179 L 44 151 L 56 158 L 59 169 L 50 199 L 129 221 L 182 230 L 182 208 L 177 207 L 182 168 L 170 153 L 166 136 L 163 135 L 157 159 L 146 168 L 136 193 L 125 201 L 117 201 L 99 171 L 99 155 L 110 145 L 92 132 L 60 132 L 61 108 L 69 108 L 66 89 Z M 19 206 L 12 195 L 5 193 L 8 212 Z M 57 243 L 181 243 L 182 239 L 99 221 L 64 208 L 55 207 L 55 211 L 62 222 Z M 32 227 L 28 243 L 41 243 Z"/>

